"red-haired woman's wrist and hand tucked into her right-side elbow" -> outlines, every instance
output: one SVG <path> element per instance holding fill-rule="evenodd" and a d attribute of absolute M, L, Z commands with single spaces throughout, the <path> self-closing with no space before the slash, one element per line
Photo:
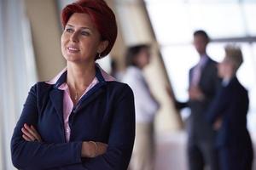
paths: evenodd
<path fill-rule="evenodd" d="M 102 142 L 83 142 L 81 156 L 82 157 L 90 157 L 94 158 L 96 156 L 101 156 L 108 149 L 108 144 L 104 144 Z"/>

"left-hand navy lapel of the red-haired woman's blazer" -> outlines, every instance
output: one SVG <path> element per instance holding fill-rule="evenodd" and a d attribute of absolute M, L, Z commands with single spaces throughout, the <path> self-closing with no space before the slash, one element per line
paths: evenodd
<path fill-rule="evenodd" d="M 63 91 L 57 88 L 54 88 L 49 93 L 49 99 L 55 107 L 55 111 L 58 114 L 61 122 L 63 120 Z"/>

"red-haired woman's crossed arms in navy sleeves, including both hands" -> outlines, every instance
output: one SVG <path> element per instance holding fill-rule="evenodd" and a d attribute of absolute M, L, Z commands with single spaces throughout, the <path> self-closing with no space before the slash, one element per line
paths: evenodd
<path fill-rule="evenodd" d="M 36 125 L 37 88 L 34 86 L 15 127 L 11 141 L 12 161 L 20 169 L 125 170 L 135 137 L 135 113 L 131 88 L 124 88 L 114 110 L 108 145 L 76 141 L 45 143 Z M 38 140 L 38 141 L 35 141 Z M 84 159 L 85 158 L 85 159 Z M 92 159 L 91 159 L 92 158 Z"/>

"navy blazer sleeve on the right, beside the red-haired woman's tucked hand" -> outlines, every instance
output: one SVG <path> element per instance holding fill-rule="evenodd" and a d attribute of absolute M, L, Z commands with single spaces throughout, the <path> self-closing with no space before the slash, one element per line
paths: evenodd
<path fill-rule="evenodd" d="M 126 170 L 135 139 L 134 97 L 127 85 L 119 95 L 113 112 L 108 150 L 102 156 L 84 161 L 88 170 Z"/>

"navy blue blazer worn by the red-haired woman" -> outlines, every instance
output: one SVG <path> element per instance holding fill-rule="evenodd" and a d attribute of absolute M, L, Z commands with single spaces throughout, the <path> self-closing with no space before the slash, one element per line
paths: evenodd
<path fill-rule="evenodd" d="M 84 95 L 69 117 L 70 141 L 64 133 L 63 91 L 67 72 L 50 85 L 35 84 L 26 99 L 11 139 L 12 161 L 25 170 L 125 170 L 135 138 L 135 109 L 131 88 L 121 82 L 105 82 L 96 69 L 99 83 Z M 34 125 L 44 142 L 22 139 L 24 123 Z M 82 141 L 108 144 L 107 152 L 81 159 Z"/>

